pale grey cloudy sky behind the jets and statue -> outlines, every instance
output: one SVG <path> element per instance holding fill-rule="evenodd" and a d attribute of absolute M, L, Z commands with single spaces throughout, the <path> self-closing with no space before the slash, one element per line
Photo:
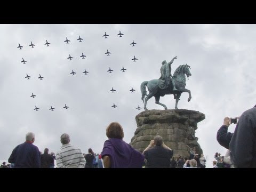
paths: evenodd
<path fill-rule="evenodd" d="M 105 31 L 108 38 L 102 37 Z M 119 31 L 122 37 L 117 36 Z M 188 93 L 182 93 L 178 108 L 205 114 L 196 137 L 207 157 L 206 167 L 212 167 L 215 152 L 226 153 L 216 140 L 223 118 L 240 116 L 256 104 L 255 31 L 255 25 L 0 25 L 0 159 L 8 159 L 29 131 L 35 133 L 34 145 L 41 151 L 49 148 L 56 153 L 60 135 L 68 133 L 71 145 L 83 153 L 89 148 L 100 153 L 106 127 L 116 121 L 130 143 L 137 129 L 135 116 L 143 110 L 136 109 L 143 107 L 140 84 L 159 78 L 162 61 L 177 56 L 172 74 L 187 63 L 192 75 L 186 82 L 192 99 L 187 102 Z M 46 39 L 50 46 L 44 45 Z M 133 40 L 135 46 L 130 45 Z M 82 53 L 85 59 L 80 58 Z M 124 73 L 122 67 L 127 69 Z M 112 87 L 116 92 L 110 92 Z M 173 95 L 160 102 L 174 109 Z M 111 107 L 113 103 L 117 108 Z M 164 109 L 154 98 L 147 108 Z M 231 124 L 229 131 L 234 130 Z"/>

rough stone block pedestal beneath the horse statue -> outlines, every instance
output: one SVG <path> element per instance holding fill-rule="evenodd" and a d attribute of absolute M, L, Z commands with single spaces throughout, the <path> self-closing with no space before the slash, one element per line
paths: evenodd
<path fill-rule="evenodd" d="M 197 154 L 203 153 L 195 137 L 197 123 L 205 119 L 203 113 L 187 109 L 146 110 L 135 119 L 137 130 L 130 145 L 141 153 L 156 135 L 161 135 L 165 145 L 173 149 L 174 157 L 189 157 L 191 147 Z"/>

